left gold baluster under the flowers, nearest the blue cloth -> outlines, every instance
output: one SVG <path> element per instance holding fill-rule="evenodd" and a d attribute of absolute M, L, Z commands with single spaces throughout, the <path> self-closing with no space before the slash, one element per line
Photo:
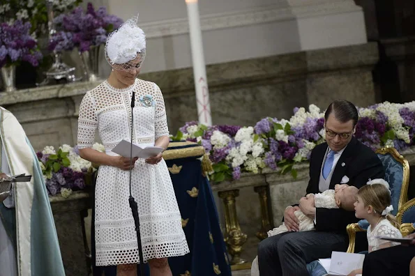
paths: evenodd
<path fill-rule="evenodd" d="M 225 205 L 225 243 L 227 250 L 232 256 L 231 264 L 246 263 L 241 259 L 242 246 L 246 243 L 246 233 L 242 233 L 239 226 L 238 216 L 236 215 L 236 201 L 235 198 L 239 196 L 239 190 L 230 190 L 218 192 L 218 195 L 223 199 Z"/>

